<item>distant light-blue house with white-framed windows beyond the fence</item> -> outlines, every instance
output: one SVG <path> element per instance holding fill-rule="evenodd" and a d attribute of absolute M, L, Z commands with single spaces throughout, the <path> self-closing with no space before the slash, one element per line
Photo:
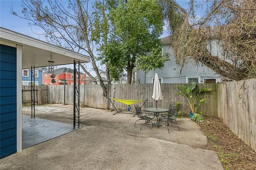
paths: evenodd
<path fill-rule="evenodd" d="M 43 84 L 43 71 L 40 69 L 35 69 L 35 85 Z M 22 69 L 22 85 L 30 85 L 31 84 L 31 69 Z"/>

